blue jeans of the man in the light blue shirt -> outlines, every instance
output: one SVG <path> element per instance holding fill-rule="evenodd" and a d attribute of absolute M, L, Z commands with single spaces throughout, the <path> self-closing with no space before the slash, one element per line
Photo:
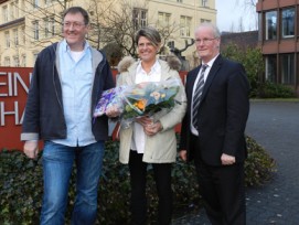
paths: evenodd
<path fill-rule="evenodd" d="M 95 223 L 103 156 L 104 141 L 86 147 L 67 147 L 45 141 L 43 150 L 42 225 L 64 224 L 68 184 L 74 162 L 76 163 L 77 176 L 72 224 L 90 225 Z"/>

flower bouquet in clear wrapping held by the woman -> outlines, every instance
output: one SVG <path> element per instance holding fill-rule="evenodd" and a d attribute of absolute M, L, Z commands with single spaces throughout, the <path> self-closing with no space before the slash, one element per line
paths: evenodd
<path fill-rule="evenodd" d="M 163 82 L 145 82 L 136 85 L 118 86 L 103 92 L 94 111 L 94 117 L 108 109 L 119 111 L 121 124 L 130 124 L 140 116 L 151 116 L 162 109 L 172 109 L 180 100 L 175 99 L 180 89 L 178 78 Z"/>

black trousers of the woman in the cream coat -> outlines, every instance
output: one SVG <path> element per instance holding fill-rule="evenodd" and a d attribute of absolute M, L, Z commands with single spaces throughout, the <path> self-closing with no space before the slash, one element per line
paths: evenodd
<path fill-rule="evenodd" d="M 130 151 L 129 171 L 131 184 L 131 224 L 147 224 L 147 165 L 142 162 L 143 154 Z M 172 216 L 172 190 L 171 190 L 171 163 L 152 163 L 153 179 L 159 197 L 158 224 L 171 224 Z"/>

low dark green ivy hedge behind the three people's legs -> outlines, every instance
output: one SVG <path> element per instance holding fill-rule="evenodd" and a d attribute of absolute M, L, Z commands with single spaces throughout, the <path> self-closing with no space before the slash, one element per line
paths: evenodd
<path fill-rule="evenodd" d="M 269 181 L 274 171 L 274 160 L 253 139 L 248 141 L 248 160 L 245 163 L 246 185 L 261 185 Z M 157 217 L 158 199 L 149 167 L 148 205 L 149 218 Z M 172 189 L 174 214 L 199 210 L 201 199 L 193 163 L 180 160 L 173 165 Z M 66 223 L 70 224 L 75 195 L 75 170 L 71 179 L 70 202 Z M 103 164 L 103 178 L 98 190 L 97 224 L 129 223 L 129 172 L 128 167 L 118 162 L 118 142 L 107 141 Z M 0 222 L 7 224 L 39 224 L 42 204 L 42 167 L 39 160 L 29 160 L 18 150 L 0 151 Z"/>

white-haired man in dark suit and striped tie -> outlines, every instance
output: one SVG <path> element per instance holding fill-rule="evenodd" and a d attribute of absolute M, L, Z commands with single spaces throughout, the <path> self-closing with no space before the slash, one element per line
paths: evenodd
<path fill-rule="evenodd" d="M 249 85 L 244 67 L 222 57 L 220 43 L 220 32 L 213 24 L 203 23 L 195 30 L 202 65 L 186 76 L 188 111 L 182 122 L 180 157 L 194 160 L 211 223 L 243 225 Z M 204 83 L 199 85 L 202 89 L 200 83 Z"/>

